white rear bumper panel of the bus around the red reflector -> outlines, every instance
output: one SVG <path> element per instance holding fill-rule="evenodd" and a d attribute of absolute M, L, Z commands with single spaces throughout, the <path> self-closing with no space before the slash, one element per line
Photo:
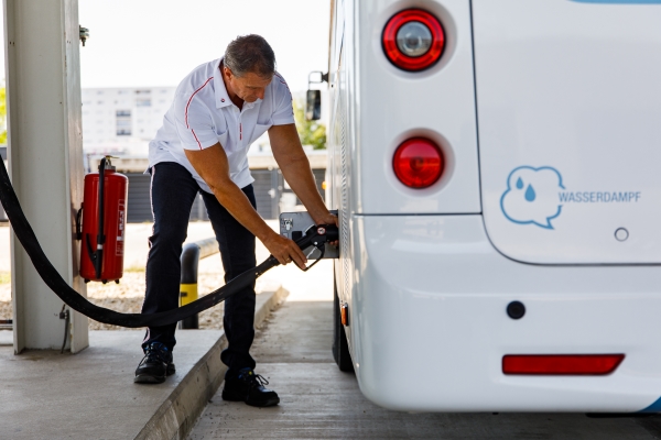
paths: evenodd
<path fill-rule="evenodd" d="M 638 411 L 661 396 L 661 273 L 541 266 L 481 216 L 357 216 L 354 363 L 375 403 L 414 411 Z M 513 320 L 507 305 L 520 300 Z M 624 353 L 606 376 L 516 376 L 505 354 Z"/>

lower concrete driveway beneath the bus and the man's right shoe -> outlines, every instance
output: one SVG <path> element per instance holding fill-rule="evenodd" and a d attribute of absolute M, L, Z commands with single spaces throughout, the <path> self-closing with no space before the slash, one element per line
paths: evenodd
<path fill-rule="evenodd" d="M 329 298 L 328 298 L 329 299 Z M 257 337 L 257 372 L 278 407 L 226 403 L 216 393 L 191 439 L 659 439 L 658 416 L 587 418 L 583 414 L 407 414 L 380 408 L 342 373 L 330 353 L 329 300 L 286 301 Z M 420 386 L 434 381 L 430 371 Z M 220 388 L 221 389 L 221 388 Z"/>

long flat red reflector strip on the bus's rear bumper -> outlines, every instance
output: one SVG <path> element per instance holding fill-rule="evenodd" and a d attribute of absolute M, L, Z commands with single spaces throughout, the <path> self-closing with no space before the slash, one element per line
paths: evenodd
<path fill-rule="evenodd" d="M 506 354 L 502 373 L 604 375 L 613 373 L 624 359 L 624 354 Z"/>

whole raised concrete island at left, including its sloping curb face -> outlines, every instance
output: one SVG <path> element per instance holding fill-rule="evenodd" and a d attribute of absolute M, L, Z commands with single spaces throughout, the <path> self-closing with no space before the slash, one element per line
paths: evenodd
<path fill-rule="evenodd" d="M 285 296 L 283 289 L 258 295 L 256 323 Z M 90 346 L 78 354 L 29 350 L 18 356 L 11 340 L 0 338 L 0 438 L 185 436 L 223 381 L 224 332 L 178 330 L 176 373 L 159 385 L 133 383 L 143 337 L 143 330 L 91 331 Z"/>

